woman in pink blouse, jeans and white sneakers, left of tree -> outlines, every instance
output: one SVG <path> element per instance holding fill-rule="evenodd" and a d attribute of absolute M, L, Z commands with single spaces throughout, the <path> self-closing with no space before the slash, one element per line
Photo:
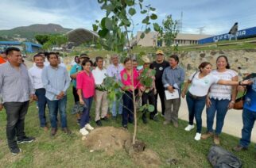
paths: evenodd
<path fill-rule="evenodd" d="M 76 76 L 76 89 L 80 97 L 80 104 L 83 105 L 83 114 L 80 120 L 80 133 L 86 136 L 93 130 L 89 124 L 90 109 L 95 95 L 95 79 L 91 73 L 91 61 L 88 59 L 82 62 L 83 71 Z"/>

